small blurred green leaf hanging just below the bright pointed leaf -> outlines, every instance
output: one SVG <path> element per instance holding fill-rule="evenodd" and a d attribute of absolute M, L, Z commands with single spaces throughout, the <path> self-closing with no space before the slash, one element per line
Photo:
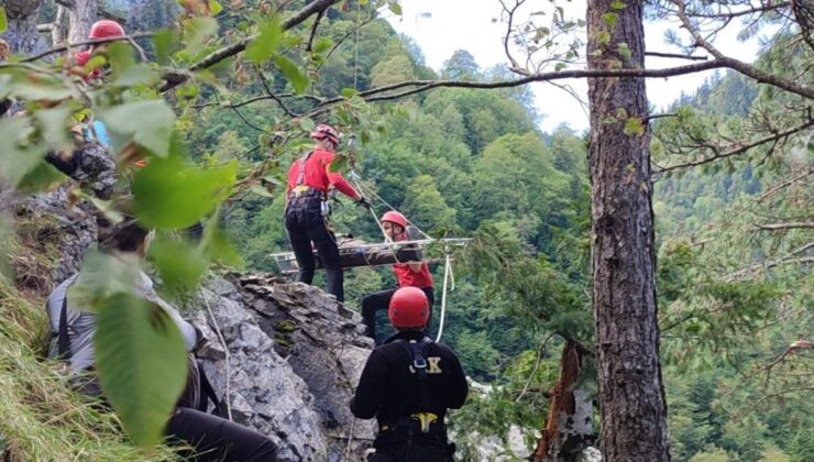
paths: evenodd
<path fill-rule="evenodd" d="M 173 294 L 194 290 L 207 271 L 207 260 L 198 249 L 166 232 L 158 233 L 150 244 L 150 257 Z"/>

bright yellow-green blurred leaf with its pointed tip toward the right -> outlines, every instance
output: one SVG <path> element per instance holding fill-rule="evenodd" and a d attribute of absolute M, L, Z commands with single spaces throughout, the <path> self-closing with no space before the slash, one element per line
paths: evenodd
<path fill-rule="evenodd" d="M 153 228 L 187 228 L 229 197 L 237 172 L 237 162 L 199 168 L 184 166 L 177 157 L 154 158 L 133 180 L 136 216 Z"/>

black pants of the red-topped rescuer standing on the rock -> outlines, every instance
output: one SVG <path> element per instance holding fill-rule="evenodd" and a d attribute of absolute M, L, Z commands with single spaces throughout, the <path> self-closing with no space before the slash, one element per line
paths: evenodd
<path fill-rule="evenodd" d="M 316 262 L 311 242 L 317 246 L 322 266 L 328 279 L 328 293 L 333 294 L 337 300 L 344 300 L 342 264 L 339 260 L 339 248 L 333 233 L 322 217 L 321 201 L 318 198 L 308 198 L 288 205 L 286 210 L 286 230 L 292 243 L 294 255 L 297 257 L 299 274 L 297 280 L 311 284 Z"/>

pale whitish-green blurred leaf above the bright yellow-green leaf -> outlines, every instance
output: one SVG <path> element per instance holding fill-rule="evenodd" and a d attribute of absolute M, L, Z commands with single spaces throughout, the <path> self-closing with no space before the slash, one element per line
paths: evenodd
<path fill-rule="evenodd" d="M 97 118 L 107 124 L 117 152 L 132 140 L 157 156 L 168 154 L 175 113 L 163 100 L 98 109 Z"/>

